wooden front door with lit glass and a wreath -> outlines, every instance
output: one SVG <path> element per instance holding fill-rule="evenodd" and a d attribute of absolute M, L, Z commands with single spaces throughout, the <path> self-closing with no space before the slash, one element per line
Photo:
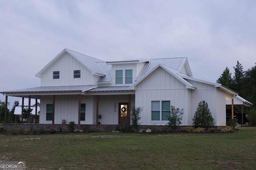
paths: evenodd
<path fill-rule="evenodd" d="M 130 125 L 130 110 L 128 103 L 119 103 L 119 124 Z"/>

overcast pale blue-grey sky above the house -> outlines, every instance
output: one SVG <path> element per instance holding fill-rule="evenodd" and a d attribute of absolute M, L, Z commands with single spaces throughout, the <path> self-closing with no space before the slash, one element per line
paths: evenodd
<path fill-rule="evenodd" d="M 103 61 L 187 57 L 193 77 L 216 82 L 226 66 L 233 76 L 237 61 L 256 63 L 256 1 L 0 0 L 0 92 L 40 86 L 35 74 L 65 48 Z"/>

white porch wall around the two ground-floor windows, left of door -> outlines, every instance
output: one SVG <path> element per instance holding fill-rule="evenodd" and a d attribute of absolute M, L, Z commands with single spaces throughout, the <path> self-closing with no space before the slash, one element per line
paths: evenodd
<path fill-rule="evenodd" d="M 82 95 L 81 103 L 86 104 L 86 120 L 80 124 L 93 124 L 93 97 Z M 41 96 L 39 123 L 52 124 L 52 121 L 46 121 L 46 104 L 52 104 L 52 96 Z M 61 124 L 65 119 L 66 123 L 75 121 L 78 124 L 78 107 L 78 95 L 56 95 L 54 123 Z"/>

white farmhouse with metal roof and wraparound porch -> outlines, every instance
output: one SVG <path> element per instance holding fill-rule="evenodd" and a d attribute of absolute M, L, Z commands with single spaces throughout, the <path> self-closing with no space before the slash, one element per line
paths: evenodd
<path fill-rule="evenodd" d="M 226 99 L 236 92 L 192 77 L 188 59 L 101 61 L 64 49 L 40 70 L 41 86 L 1 92 L 40 99 L 44 124 L 130 124 L 130 108 L 143 107 L 141 125 L 166 125 L 170 106 L 192 125 L 198 103 L 208 103 L 216 126 L 226 125 Z M 98 119 L 101 115 L 101 119 Z"/>

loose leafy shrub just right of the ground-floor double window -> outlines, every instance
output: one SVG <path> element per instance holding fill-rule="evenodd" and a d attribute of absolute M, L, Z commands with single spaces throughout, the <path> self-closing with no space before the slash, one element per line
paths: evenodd
<path fill-rule="evenodd" d="M 176 131 L 177 126 L 181 124 L 183 114 L 184 114 L 183 109 L 175 108 L 174 106 L 171 106 L 170 116 L 167 116 L 169 121 L 167 125 L 172 129 L 174 129 L 174 131 Z"/>

